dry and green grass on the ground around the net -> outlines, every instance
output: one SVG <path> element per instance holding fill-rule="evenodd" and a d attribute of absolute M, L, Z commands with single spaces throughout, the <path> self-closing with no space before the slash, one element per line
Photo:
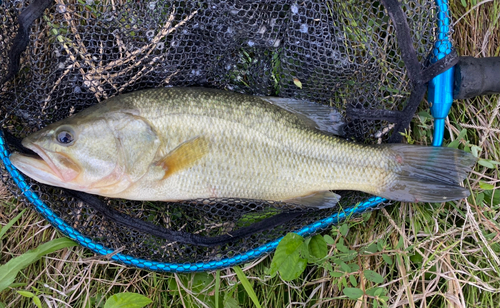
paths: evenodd
<path fill-rule="evenodd" d="M 451 1 L 454 41 L 459 54 L 499 56 L 498 1 Z M 424 109 L 422 109 L 424 110 Z M 430 144 L 416 117 L 409 134 L 415 143 Z M 500 97 L 458 101 L 447 121 L 445 142 L 466 130 L 459 147 L 477 146 L 483 159 L 500 161 Z M 493 167 L 493 168 L 491 168 Z M 136 292 L 153 300 L 149 307 L 498 307 L 500 306 L 499 166 L 475 167 L 466 181 L 467 200 L 443 204 L 395 204 L 334 227 L 329 254 L 291 282 L 270 277 L 271 259 L 241 266 L 245 286 L 233 269 L 188 275 L 159 274 L 126 268 L 81 247 L 58 251 L 21 271 L 16 285 L 0 293 L 6 307 L 31 307 L 32 299 L 16 291 L 36 293 L 44 307 L 103 307 L 118 292 Z M 495 190 L 496 189 L 496 190 Z M 0 223 L 6 225 L 26 206 L 0 186 Z M 60 237 L 32 210 L 6 234 L 0 263 Z M 342 243 L 342 245 L 341 245 Z M 356 252 L 342 259 L 342 250 Z M 347 266 L 347 267 L 346 267 Z M 367 270 L 383 276 L 374 282 Z M 241 274 L 241 273 L 240 273 Z M 248 296 L 249 285 L 255 298 Z M 345 288 L 373 295 L 349 299 Z"/>

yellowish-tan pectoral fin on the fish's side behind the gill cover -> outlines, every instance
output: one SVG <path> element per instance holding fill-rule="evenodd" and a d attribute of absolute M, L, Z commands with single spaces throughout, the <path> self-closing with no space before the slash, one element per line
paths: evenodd
<path fill-rule="evenodd" d="M 181 143 L 157 163 L 165 170 L 162 180 L 194 166 L 207 153 L 208 142 L 204 137 L 196 137 Z"/>

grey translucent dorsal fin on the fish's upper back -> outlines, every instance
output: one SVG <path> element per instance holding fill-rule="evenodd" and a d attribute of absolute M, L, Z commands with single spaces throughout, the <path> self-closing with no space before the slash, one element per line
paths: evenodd
<path fill-rule="evenodd" d="M 298 115 L 316 129 L 343 136 L 344 121 L 335 108 L 310 101 L 282 97 L 262 97 L 263 100 Z"/>

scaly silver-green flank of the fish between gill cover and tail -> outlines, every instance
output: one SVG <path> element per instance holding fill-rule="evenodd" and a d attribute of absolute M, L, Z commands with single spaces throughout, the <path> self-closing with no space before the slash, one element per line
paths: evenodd
<path fill-rule="evenodd" d="M 136 103 L 141 116 L 150 119 L 160 132 L 165 144 L 161 152 L 170 152 L 178 144 L 205 134 L 211 136 L 212 147 L 199 165 L 164 181 L 162 190 L 180 191 L 187 198 L 207 197 L 207 193 L 212 193 L 209 197 L 237 195 L 285 200 L 315 191 L 360 189 L 363 185 L 362 189 L 373 192 L 373 183 L 380 183 L 380 178 L 387 173 L 339 168 L 353 164 L 354 155 L 358 161 L 367 162 L 361 164 L 364 167 L 373 164 L 372 160 L 383 158 L 374 155 L 373 150 L 364 158 L 365 146 L 313 130 L 293 114 L 258 97 L 229 92 L 223 92 L 224 96 L 220 97 L 220 91 L 204 91 L 206 95 L 183 91 L 177 95 L 174 91 L 150 91 L 148 98 L 142 96 L 135 100 L 150 101 L 150 97 L 155 97 L 172 106 L 171 110 L 167 107 L 162 111 L 164 116 L 153 116 L 158 110 L 156 105 Z M 172 96 L 176 98 L 172 100 Z M 176 110 L 183 110 L 183 114 L 176 114 Z M 342 155 L 342 152 L 352 155 Z M 153 177 L 147 185 L 155 185 L 155 180 Z M 339 181 L 342 183 L 337 183 Z"/>

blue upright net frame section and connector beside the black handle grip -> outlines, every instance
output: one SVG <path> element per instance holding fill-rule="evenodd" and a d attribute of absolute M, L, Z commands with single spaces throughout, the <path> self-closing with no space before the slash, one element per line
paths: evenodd
<path fill-rule="evenodd" d="M 444 58 L 451 53 L 453 46 L 449 38 L 450 32 L 450 10 L 446 0 L 436 0 L 438 6 L 438 32 L 437 41 L 434 44 L 431 63 Z M 444 121 L 450 112 L 453 103 L 453 74 L 454 67 L 434 77 L 429 82 L 427 100 L 431 106 L 431 114 L 434 117 L 433 146 L 441 146 L 443 143 Z"/>

